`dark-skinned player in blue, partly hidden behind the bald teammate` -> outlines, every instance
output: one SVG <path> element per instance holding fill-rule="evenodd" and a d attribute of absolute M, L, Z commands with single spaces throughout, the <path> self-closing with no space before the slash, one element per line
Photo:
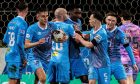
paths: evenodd
<path fill-rule="evenodd" d="M 75 31 L 82 29 L 81 24 L 81 8 L 80 6 L 73 6 L 70 10 L 70 16 L 65 23 L 75 26 Z M 77 27 L 76 27 L 77 26 Z M 80 56 L 80 45 L 73 38 L 70 37 L 69 57 L 71 68 L 71 79 L 80 78 L 82 83 L 88 83 L 88 69 L 84 65 L 84 61 Z"/>

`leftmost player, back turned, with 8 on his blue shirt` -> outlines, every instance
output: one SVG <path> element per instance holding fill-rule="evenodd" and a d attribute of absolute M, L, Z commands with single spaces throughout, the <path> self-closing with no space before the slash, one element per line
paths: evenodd
<path fill-rule="evenodd" d="M 3 42 L 7 44 L 8 50 L 5 56 L 6 71 L 9 84 L 19 84 L 22 69 L 26 65 L 24 52 L 24 38 L 28 27 L 25 17 L 28 14 L 28 5 L 19 2 L 16 6 L 18 16 L 13 18 L 7 26 Z"/>

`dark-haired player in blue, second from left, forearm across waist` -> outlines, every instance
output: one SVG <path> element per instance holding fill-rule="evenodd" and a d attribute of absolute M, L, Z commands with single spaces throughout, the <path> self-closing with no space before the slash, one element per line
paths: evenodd
<path fill-rule="evenodd" d="M 51 57 L 51 24 L 48 22 L 48 10 L 38 8 L 36 11 L 38 22 L 27 29 L 25 48 L 30 48 L 28 62 L 35 72 L 35 84 L 45 84 L 48 63 Z"/>

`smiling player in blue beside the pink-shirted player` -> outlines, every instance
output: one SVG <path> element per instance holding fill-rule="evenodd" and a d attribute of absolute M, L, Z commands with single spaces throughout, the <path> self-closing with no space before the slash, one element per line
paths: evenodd
<path fill-rule="evenodd" d="M 133 67 L 136 69 L 136 63 L 134 59 L 134 54 L 132 52 L 132 48 L 129 45 L 129 41 L 126 38 L 124 32 L 122 32 L 117 26 L 117 15 L 114 12 L 109 12 L 106 14 L 106 31 L 108 34 L 108 42 L 109 42 L 109 57 L 111 60 L 111 74 L 119 81 L 120 84 L 127 84 L 126 81 L 126 73 L 121 62 L 121 54 L 120 54 L 120 45 L 126 49 Z"/>

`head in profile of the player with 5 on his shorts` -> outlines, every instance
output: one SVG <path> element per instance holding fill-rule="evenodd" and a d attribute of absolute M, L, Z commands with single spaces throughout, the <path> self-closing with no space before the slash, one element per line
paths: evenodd
<path fill-rule="evenodd" d="M 101 24 L 102 20 L 103 20 L 102 14 L 99 13 L 98 11 L 94 11 L 90 15 L 89 24 L 91 27 L 95 27 L 96 25 Z"/>

